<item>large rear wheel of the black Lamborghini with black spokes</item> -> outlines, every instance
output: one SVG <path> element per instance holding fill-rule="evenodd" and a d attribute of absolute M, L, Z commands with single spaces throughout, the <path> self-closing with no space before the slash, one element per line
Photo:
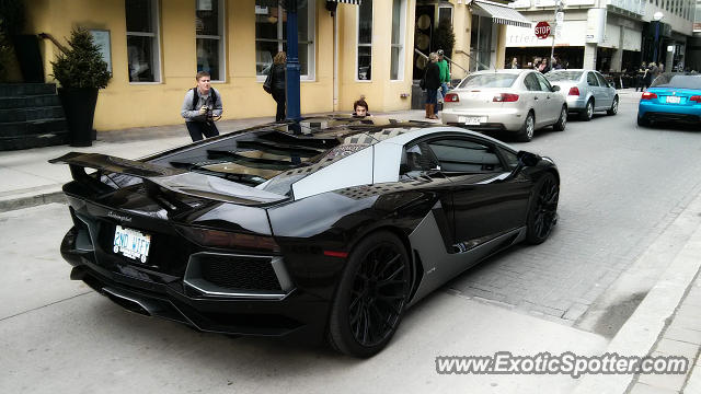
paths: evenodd
<path fill-rule="evenodd" d="M 410 294 L 409 253 L 394 234 L 380 231 L 348 255 L 329 317 L 331 347 L 367 358 L 390 341 Z"/>

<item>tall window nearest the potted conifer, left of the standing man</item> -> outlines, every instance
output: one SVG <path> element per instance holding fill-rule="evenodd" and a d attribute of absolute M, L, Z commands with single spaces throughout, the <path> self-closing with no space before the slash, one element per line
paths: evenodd
<path fill-rule="evenodd" d="M 125 0 L 129 82 L 160 82 L 158 3 Z"/>

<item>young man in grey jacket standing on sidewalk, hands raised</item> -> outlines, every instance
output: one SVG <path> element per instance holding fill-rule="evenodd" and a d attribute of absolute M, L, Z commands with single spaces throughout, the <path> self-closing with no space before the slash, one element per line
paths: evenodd
<path fill-rule="evenodd" d="M 215 119 L 221 117 L 221 95 L 210 86 L 210 78 L 207 71 L 197 72 L 197 85 L 185 93 L 180 112 L 193 142 L 219 136 Z"/>

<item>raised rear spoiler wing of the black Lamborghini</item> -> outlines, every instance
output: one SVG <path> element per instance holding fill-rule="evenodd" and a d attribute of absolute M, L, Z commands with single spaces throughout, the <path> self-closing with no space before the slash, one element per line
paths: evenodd
<path fill-rule="evenodd" d="M 95 169 L 104 173 L 139 177 L 147 185 L 147 192 L 150 188 L 149 186 L 160 186 L 168 190 L 189 196 L 241 205 L 265 205 L 287 198 L 286 196 L 256 189 L 212 175 L 192 173 L 180 169 L 100 153 L 70 152 L 48 162 L 68 164 L 73 179 L 80 183 L 100 182 L 85 173 L 85 169 Z"/>

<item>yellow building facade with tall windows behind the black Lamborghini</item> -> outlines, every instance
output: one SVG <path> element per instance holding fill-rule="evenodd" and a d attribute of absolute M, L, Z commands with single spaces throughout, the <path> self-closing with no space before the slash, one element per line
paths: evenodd
<path fill-rule="evenodd" d="M 286 50 L 287 13 L 279 0 L 26 0 L 26 33 L 65 44 L 71 28 L 91 31 L 110 65 L 97 130 L 182 123 L 185 92 L 197 71 L 211 74 L 222 119 L 271 116 L 262 88 L 277 51 Z M 482 0 L 298 0 L 302 114 L 352 112 L 365 96 L 372 112 L 411 107 L 423 76 L 422 54 L 440 21 L 455 33 L 453 78 L 504 62 L 506 25 L 528 21 L 506 3 Z M 415 32 L 417 39 L 415 39 Z M 428 45 L 426 45 L 428 42 Z M 44 69 L 60 49 L 41 43 Z M 447 54 L 448 55 L 448 54 Z M 464 70 L 464 71 L 463 71 Z M 147 131 L 145 131 L 147 132 Z"/>

